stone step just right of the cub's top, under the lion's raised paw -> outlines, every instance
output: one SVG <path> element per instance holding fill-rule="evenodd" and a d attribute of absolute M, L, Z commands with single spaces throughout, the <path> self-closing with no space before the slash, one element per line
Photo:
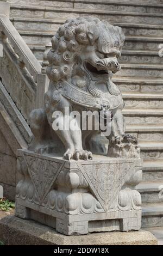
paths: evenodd
<path fill-rule="evenodd" d="M 135 136 L 139 142 L 163 141 L 163 125 L 127 125 L 126 132 Z"/>

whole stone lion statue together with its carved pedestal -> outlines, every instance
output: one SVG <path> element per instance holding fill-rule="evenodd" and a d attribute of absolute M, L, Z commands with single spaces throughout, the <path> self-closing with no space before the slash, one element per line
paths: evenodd
<path fill-rule="evenodd" d="M 45 53 L 50 80 L 45 105 L 30 114 L 34 136 L 28 150 L 18 151 L 17 217 L 65 235 L 140 229 L 141 196 L 135 189 L 142 179 L 140 148 L 136 137 L 125 134 L 122 95 L 111 81 L 121 68 L 123 42 L 120 27 L 92 17 L 69 19 L 53 36 Z M 86 118 L 78 130 L 68 124 L 54 131 L 55 111 L 62 114 L 60 123 L 72 120 L 65 107 L 80 115 L 97 111 L 95 125 L 101 110 L 111 111 L 109 135 L 102 137 L 99 126 L 82 129 Z"/>

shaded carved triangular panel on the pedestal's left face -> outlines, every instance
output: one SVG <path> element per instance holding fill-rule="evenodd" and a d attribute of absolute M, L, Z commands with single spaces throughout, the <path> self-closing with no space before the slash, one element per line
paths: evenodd
<path fill-rule="evenodd" d="M 57 179 L 64 163 L 39 159 L 38 157 L 24 155 L 30 178 L 36 188 L 37 194 L 42 201 Z"/>

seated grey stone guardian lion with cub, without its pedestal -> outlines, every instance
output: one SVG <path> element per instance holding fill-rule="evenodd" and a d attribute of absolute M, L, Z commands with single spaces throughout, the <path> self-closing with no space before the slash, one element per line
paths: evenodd
<path fill-rule="evenodd" d="M 124 132 L 122 109 L 124 102 L 112 74 L 121 69 L 117 58 L 121 55 L 124 34 L 120 27 L 93 17 L 68 19 L 52 38 L 48 52 L 49 88 L 42 109 L 30 114 L 33 139 L 30 150 L 36 153 L 62 154 L 65 159 L 87 160 L 92 154 L 139 157 L 137 139 Z M 104 139 L 100 129 L 53 129 L 55 119 L 60 124 L 73 120 L 64 114 L 70 111 L 111 112 L 111 131 Z M 62 116 L 54 117 L 60 111 Z M 67 119 L 68 118 L 68 119 Z M 87 120 L 85 120 L 86 122 Z M 77 122 L 78 125 L 78 122 Z"/>

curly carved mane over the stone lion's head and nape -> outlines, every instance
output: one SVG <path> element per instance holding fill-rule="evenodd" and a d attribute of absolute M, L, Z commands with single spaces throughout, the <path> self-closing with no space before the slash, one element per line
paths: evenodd
<path fill-rule="evenodd" d="M 52 49 L 48 52 L 49 66 L 46 71 L 49 79 L 57 82 L 70 78 L 83 48 L 93 45 L 98 38 L 102 39 L 102 33 L 111 35 L 107 47 L 102 50 L 109 48 L 109 52 L 118 51 L 124 41 L 120 27 L 93 17 L 66 20 L 51 40 Z"/>

